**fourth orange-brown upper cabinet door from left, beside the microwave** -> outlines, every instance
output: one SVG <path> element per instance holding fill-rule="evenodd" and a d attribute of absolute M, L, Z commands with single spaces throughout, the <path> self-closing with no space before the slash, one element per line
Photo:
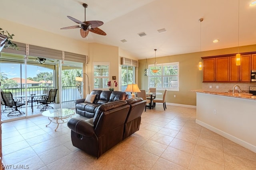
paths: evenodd
<path fill-rule="evenodd" d="M 240 81 L 251 81 L 251 55 L 241 55 Z"/>

